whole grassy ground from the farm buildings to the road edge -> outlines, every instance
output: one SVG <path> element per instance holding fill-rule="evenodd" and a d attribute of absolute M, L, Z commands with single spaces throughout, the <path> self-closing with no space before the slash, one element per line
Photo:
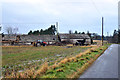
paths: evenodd
<path fill-rule="evenodd" d="M 68 75 L 74 73 L 77 75 L 77 71 L 82 73 L 107 47 L 108 45 L 2 47 L 3 76 L 6 78 L 70 78 L 71 76 Z"/>

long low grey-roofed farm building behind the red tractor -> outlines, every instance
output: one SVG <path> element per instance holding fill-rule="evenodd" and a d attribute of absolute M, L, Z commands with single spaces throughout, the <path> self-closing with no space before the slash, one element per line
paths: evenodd
<path fill-rule="evenodd" d="M 2 43 L 4 44 L 10 44 L 13 41 L 19 41 L 19 44 L 28 44 L 31 45 L 31 42 L 42 40 L 44 42 L 47 42 L 47 44 L 53 44 L 56 42 L 56 35 L 4 35 L 2 38 Z"/>

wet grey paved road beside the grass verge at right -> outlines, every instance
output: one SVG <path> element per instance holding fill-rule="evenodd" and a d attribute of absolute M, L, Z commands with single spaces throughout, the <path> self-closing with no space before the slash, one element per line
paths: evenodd
<path fill-rule="evenodd" d="M 112 44 L 80 78 L 118 78 L 118 50 L 120 45 Z"/>

